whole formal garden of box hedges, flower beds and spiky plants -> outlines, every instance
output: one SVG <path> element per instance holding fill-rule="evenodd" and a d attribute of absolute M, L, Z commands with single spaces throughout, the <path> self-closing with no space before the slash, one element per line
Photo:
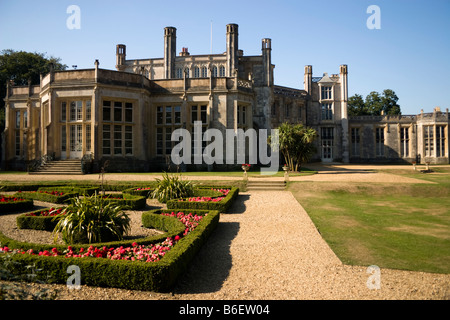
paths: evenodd
<path fill-rule="evenodd" d="M 24 280 L 32 268 L 34 281 L 66 284 L 67 270 L 77 266 L 83 285 L 167 292 L 239 187 L 194 184 L 165 174 L 135 184 L 11 183 L 1 192 L 0 215 L 15 214 L 18 229 L 54 236 L 53 242 L 31 243 L 0 232 L 3 280 Z M 148 206 L 148 199 L 158 208 Z M 129 210 L 141 213 L 142 227 L 158 232 L 133 237 Z"/>

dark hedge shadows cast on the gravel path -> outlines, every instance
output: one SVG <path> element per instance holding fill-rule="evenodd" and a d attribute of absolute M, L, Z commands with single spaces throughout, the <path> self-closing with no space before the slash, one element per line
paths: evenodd
<path fill-rule="evenodd" d="M 250 195 L 239 195 L 227 214 L 241 214 L 245 212 L 245 201 Z M 200 252 L 192 261 L 188 270 L 183 274 L 174 294 L 210 293 L 219 291 L 228 278 L 233 265 L 230 246 L 239 232 L 239 222 L 219 222 L 216 230 L 203 245 Z"/>

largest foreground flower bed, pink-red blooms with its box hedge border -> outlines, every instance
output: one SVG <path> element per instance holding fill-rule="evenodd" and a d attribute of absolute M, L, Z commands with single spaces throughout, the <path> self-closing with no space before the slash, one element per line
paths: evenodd
<path fill-rule="evenodd" d="M 14 263 L 4 264 L 1 267 L 20 275 L 27 273 L 28 265 L 34 265 L 36 270 L 45 271 L 37 273 L 35 280 L 66 283 L 67 268 L 70 265 L 77 265 L 81 271 L 82 284 L 167 292 L 186 271 L 195 254 L 219 222 L 218 211 L 196 210 L 189 213 L 179 215 L 170 210 L 145 212 L 142 216 L 145 226 L 155 228 L 165 226 L 170 229 L 162 241 L 161 239 L 159 243 L 152 241 L 151 246 L 144 246 L 140 241 L 140 244 L 132 243 L 129 247 L 120 244 L 101 247 L 91 245 L 85 251 L 81 250 L 80 246 L 39 247 L 16 242 L 0 234 L 2 252 L 21 253 L 11 256 Z M 189 229 L 188 232 L 186 229 Z M 183 235 L 184 233 L 186 234 Z M 82 257 L 75 257 L 80 254 Z M 153 254 L 156 256 L 152 257 Z M 149 257 L 150 263 L 147 262 Z"/>

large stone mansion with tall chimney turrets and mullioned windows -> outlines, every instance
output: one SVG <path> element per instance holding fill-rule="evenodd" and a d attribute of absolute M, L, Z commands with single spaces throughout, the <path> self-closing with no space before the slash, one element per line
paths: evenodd
<path fill-rule="evenodd" d="M 317 130 L 313 161 L 449 163 L 449 113 L 348 117 L 348 68 L 313 76 L 304 89 L 274 81 L 271 39 L 261 54 L 239 48 L 238 25 L 226 26 L 226 52 L 177 53 L 176 28 L 164 29 L 164 57 L 127 60 L 116 47 L 116 69 L 50 71 L 39 85 L 7 85 L 2 169 L 23 170 L 44 155 L 89 157 L 94 168 L 161 170 L 177 128 L 270 129 L 283 122 Z M 205 144 L 203 145 L 205 147 Z M 240 164 L 238 164 L 240 165 Z M 189 169 L 189 168 L 188 168 Z"/>

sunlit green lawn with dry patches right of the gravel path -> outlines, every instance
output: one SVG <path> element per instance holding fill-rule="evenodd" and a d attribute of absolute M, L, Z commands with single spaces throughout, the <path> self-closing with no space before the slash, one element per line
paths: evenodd
<path fill-rule="evenodd" d="M 450 174 L 413 175 L 436 184 L 293 182 L 289 190 L 343 263 L 450 273 Z"/>

